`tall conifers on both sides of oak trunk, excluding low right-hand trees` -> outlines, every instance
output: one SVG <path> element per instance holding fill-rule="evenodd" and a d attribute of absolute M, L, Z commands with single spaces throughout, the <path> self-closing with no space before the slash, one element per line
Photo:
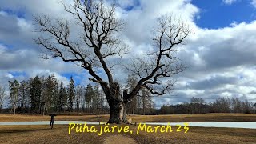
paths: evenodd
<path fill-rule="evenodd" d="M 134 77 L 128 76 L 124 87 L 134 86 Z M 2 86 L 0 86 L 0 93 Z M 74 78 L 70 78 L 68 86 L 58 81 L 54 74 L 48 77 L 38 76 L 18 82 L 9 81 L 10 94 L 6 95 L 10 113 L 86 113 L 109 114 L 109 107 L 101 86 L 75 85 Z M 129 106 L 128 114 L 150 114 L 153 110 L 153 102 L 150 92 L 142 90 L 138 97 L 134 98 Z M 0 97 L 0 109 L 4 105 L 4 94 Z M 1 96 L 1 94 L 0 94 Z"/>

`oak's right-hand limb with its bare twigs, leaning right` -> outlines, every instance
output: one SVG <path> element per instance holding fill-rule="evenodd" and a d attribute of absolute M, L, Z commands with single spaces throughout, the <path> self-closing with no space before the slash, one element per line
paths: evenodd
<path fill-rule="evenodd" d="M 172 89 L 174 82 L 162 82 L 162 80 L 185 69 L 185 66 L 177 63 L 178 58 L 174 53 L 184 39 L 192 34 L 186 23 L 177 21 L 172 16 L 165 16 L 158 19 L 158 28 L 154 33 L 154 51 L 146 54 L 146 58 L 139 58 L 127 67 L 127 70 L 141 78 L 134 90 L 127 94 L 129 99 L 133 98 L 142 87 L 150 90 L 151 94 L 166 94 Z"/>

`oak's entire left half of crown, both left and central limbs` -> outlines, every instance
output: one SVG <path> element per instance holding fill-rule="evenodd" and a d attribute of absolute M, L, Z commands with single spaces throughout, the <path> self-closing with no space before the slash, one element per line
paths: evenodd
<path fill-rule="evenodd" d="M 107 93 L 112 93 L 114 79 L 110 73 L 111 66 L 106 58 L 127 53 L 126 46 L 118 38 L 118 31 L 122 30 L 123 22 L 115 17 L 116 6 L 104 6 L 102 1 L 74 0 L 72 5 L 62 2 L 66 12 L 76 19 L 74 24 L 82 28 L 82 34 L 75 40 L 71 38 L 71 21 L 57 19 L 52 21 L 49 16 L 34 18 L 38 25 L 38 32 L 46 35 L 39 36 L 35 42 L 48 50 L 44 58 L 62 58 L 64 62 L 78 62 L 88 70 L 93 82 L 105 86 Z M 96 74 L 97 67 L 105 71 L 108 82 Z M 110 94 L 113 95 L 113 94 Z"/>

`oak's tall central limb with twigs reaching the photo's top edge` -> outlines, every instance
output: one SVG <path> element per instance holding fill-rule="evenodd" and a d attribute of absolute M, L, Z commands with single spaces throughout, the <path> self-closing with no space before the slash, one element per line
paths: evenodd
<path fill-rule="evenodd" d="M 114 55 L 126 54 L 126 48 L 120 45 L 120 40 L 115 34 L 122 30 L 123 23 L 115 18 L 116 6 L 110 8 L 103 5 L 103 2 L 74 0 L 73 6 L 63 6 L 67 12 L 78 19 L 83 27 L 82 40 L 87 46 L 94 49 L 94 54 L 105 71 L 110 86 L 114 85 L 113 76 L 110 73 L 110 66 L 105 58 Z"/>

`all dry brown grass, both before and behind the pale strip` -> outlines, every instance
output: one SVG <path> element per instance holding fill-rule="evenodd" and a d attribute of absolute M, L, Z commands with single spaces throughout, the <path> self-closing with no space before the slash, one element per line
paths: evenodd
<path fill-rule="evenodd" d="M 101 116 L 106 122 L 108 115 Z M 219 121 L 250 121 L 255 122 L 256 114 L 191 114 L 191 115 L 132 115 L 134 122 L 219 122 Z M 32 116 L 20 114 L 0 114 L 0 122 L 42 121 L 50 120 L 49 116 Z M 62 116 L 56 120 L 97 121 L 96 116 Z M 114 126 L 114 125 L 111 125 Z M 119 125 L 120 126 L 120 125 Z M 135 134 L 138 126 L 129 125 L 134 134 L 103 133 L 75 133 L 69 135 L 68 125 L 49 126 L 0 126 L 0 143 L 256 143 L 256 130 L 230 128 L 190 127 L 186 134 L 177 132 L 173 127 L 172 133 Z M 100 130 L 99 126 L 96 126 Z"/>

